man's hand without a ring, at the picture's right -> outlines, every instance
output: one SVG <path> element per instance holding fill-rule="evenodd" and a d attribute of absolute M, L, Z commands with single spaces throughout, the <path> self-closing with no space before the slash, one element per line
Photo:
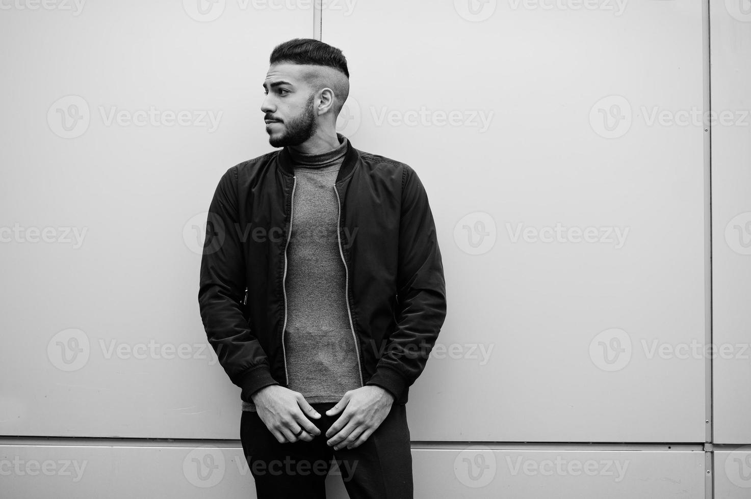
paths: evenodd
<path fill-rule="evenodd" d="M 346 392 L 326 411 L 327 416 L 333 416 L 344 410 L 326 432 L 327 444 L 334 450 L 360 446 L 386 419 L 393 403 L 394 395 L 380 386 L 366 385 Z"/>

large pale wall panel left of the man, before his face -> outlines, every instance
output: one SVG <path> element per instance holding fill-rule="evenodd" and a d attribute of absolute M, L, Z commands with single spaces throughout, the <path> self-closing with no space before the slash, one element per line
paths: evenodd
<path fill-rule="evenodd" d="M 268 58 L 312 10 L 62 3 L 0 17 L 0 434 L 237 438 L 200 239 L 219 177 L 270 150 Z"/>

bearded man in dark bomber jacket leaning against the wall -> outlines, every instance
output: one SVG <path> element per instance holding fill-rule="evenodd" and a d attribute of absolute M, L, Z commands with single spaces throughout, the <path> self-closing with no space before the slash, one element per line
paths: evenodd
<path fill-rule="evenodd" d="M 198 292 L 258 497 L 325 497 L 332 458 L 350 497 L 412 497 L 405 404 L 446 314 L 427 194 L 336 133 L 341 50 L 279 44 L 263 86 L 282 149 L 219 181 Z"/>

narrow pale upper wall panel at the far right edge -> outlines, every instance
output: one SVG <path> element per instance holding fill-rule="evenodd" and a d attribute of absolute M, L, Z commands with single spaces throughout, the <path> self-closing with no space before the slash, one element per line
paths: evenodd
<path fill-rule="evenodd" d="M 716 443 L 751 443 L 751 11 L 711 2 Z"/>

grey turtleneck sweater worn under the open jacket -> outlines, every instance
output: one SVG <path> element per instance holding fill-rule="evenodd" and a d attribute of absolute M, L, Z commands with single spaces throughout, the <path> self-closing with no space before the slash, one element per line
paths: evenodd
<path fill-rule="evenodd" d="M 339 204 L 333 185 L 347 152 L 319 155 L 288 149 L 294 161 L 292 236 L 287 248 L 287 352 L 289 388 L 309 404 L 338 402 L 360 387 L 360 371 L 345 302 L 345 269 L 336 239 Z M 347 239 L 342 234 L 342 245 Z M 243 410 L 255 404 L 243 401 Z"/>

